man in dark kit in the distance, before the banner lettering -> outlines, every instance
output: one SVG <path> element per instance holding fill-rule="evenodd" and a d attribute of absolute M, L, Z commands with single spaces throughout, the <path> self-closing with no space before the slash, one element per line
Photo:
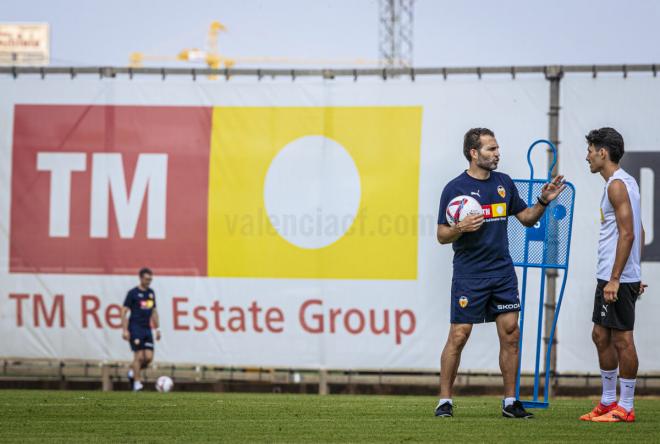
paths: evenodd
<path fill-rule="evenodd" d="M 156 340 L 160 341 L 156 293 L 149 288 L 153 273 L 150 269 L 143 268 L 139 275 L 140 285 L 128 292 L 121 309 L 122 337 L 129 341 L 133 350 L 133 362 L 128 371 L 128 380 L 136 392 L 143 387 L 140 371 L 147 368 L 154 359 L 152 327 L 156 330 Z M 127 316 L 129 311 L 130 317 Z"/>

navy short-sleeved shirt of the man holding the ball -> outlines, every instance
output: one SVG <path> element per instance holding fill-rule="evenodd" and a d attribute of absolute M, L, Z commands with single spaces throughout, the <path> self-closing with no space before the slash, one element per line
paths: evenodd
<path fill-rule="evenodd" d="M 463 233 L 452 243 L 454 277 L 491 278 L 513 273 L 507 219 L 527 208 L 513 180 L 495 171 L 491 171 L 486 180 L 475 179 L 463 172 L 442 191 L 438 224 L 448 224 L 447 205 L 461 195 L 472 196 L 481 204 L 484 223 L 477 231 Z"/>

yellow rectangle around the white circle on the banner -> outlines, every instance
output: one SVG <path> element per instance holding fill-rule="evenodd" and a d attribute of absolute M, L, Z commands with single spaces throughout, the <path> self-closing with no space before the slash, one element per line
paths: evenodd
<path fill-rule="evenodd" d="M 421 107 L 215 108 L 209 276 L 415 279 L 421 120 Z M 301 248 L 271 224 L 264 183 L 282 148 L 319 135 L 355 163 L 360 205 L 337 241 Z"/>

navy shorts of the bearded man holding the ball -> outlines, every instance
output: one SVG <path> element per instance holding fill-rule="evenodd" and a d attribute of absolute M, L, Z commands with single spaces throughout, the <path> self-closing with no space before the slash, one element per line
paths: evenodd
<path fill-rule="evenodd" d="M 451 323 L 480 324 L 511 311 L 520 311 L 518 277 L 462 278 L 451 282 Z"/>

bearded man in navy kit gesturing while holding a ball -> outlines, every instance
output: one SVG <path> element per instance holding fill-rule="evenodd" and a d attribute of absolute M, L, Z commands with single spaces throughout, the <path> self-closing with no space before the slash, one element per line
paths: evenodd
<path fill-rule="evenodd" d="M 454 248 L 454 273 L 451 285 L 451 325 L 440 364 L 440 402 L 438 417 L 453 416 L 452 388 L 461 352 L 473 324 L 495 322 L 500 340 L 500 369 L 504 380 L 502 415 L 507 418 L 530 418 L 515 398 L 518 367 L 518 278 L 509 255 L 508 216 L 516 216 L 525 226 L 533 226 L 545 208 L 561 193 L 563 177 L 547 183 L 530 208 L 518 195 L 509 176 L 494 170 L 500 160 L 495 134 L 487 128 L 473 128 L 465 133 L 463 154 L 470 162 L 468 170 L 445 186 L 440 199 L 438 241 Z M 466 217 L 450 226 L 446 208 L 461 195 L 472 196 L 483 214 Z"/>

